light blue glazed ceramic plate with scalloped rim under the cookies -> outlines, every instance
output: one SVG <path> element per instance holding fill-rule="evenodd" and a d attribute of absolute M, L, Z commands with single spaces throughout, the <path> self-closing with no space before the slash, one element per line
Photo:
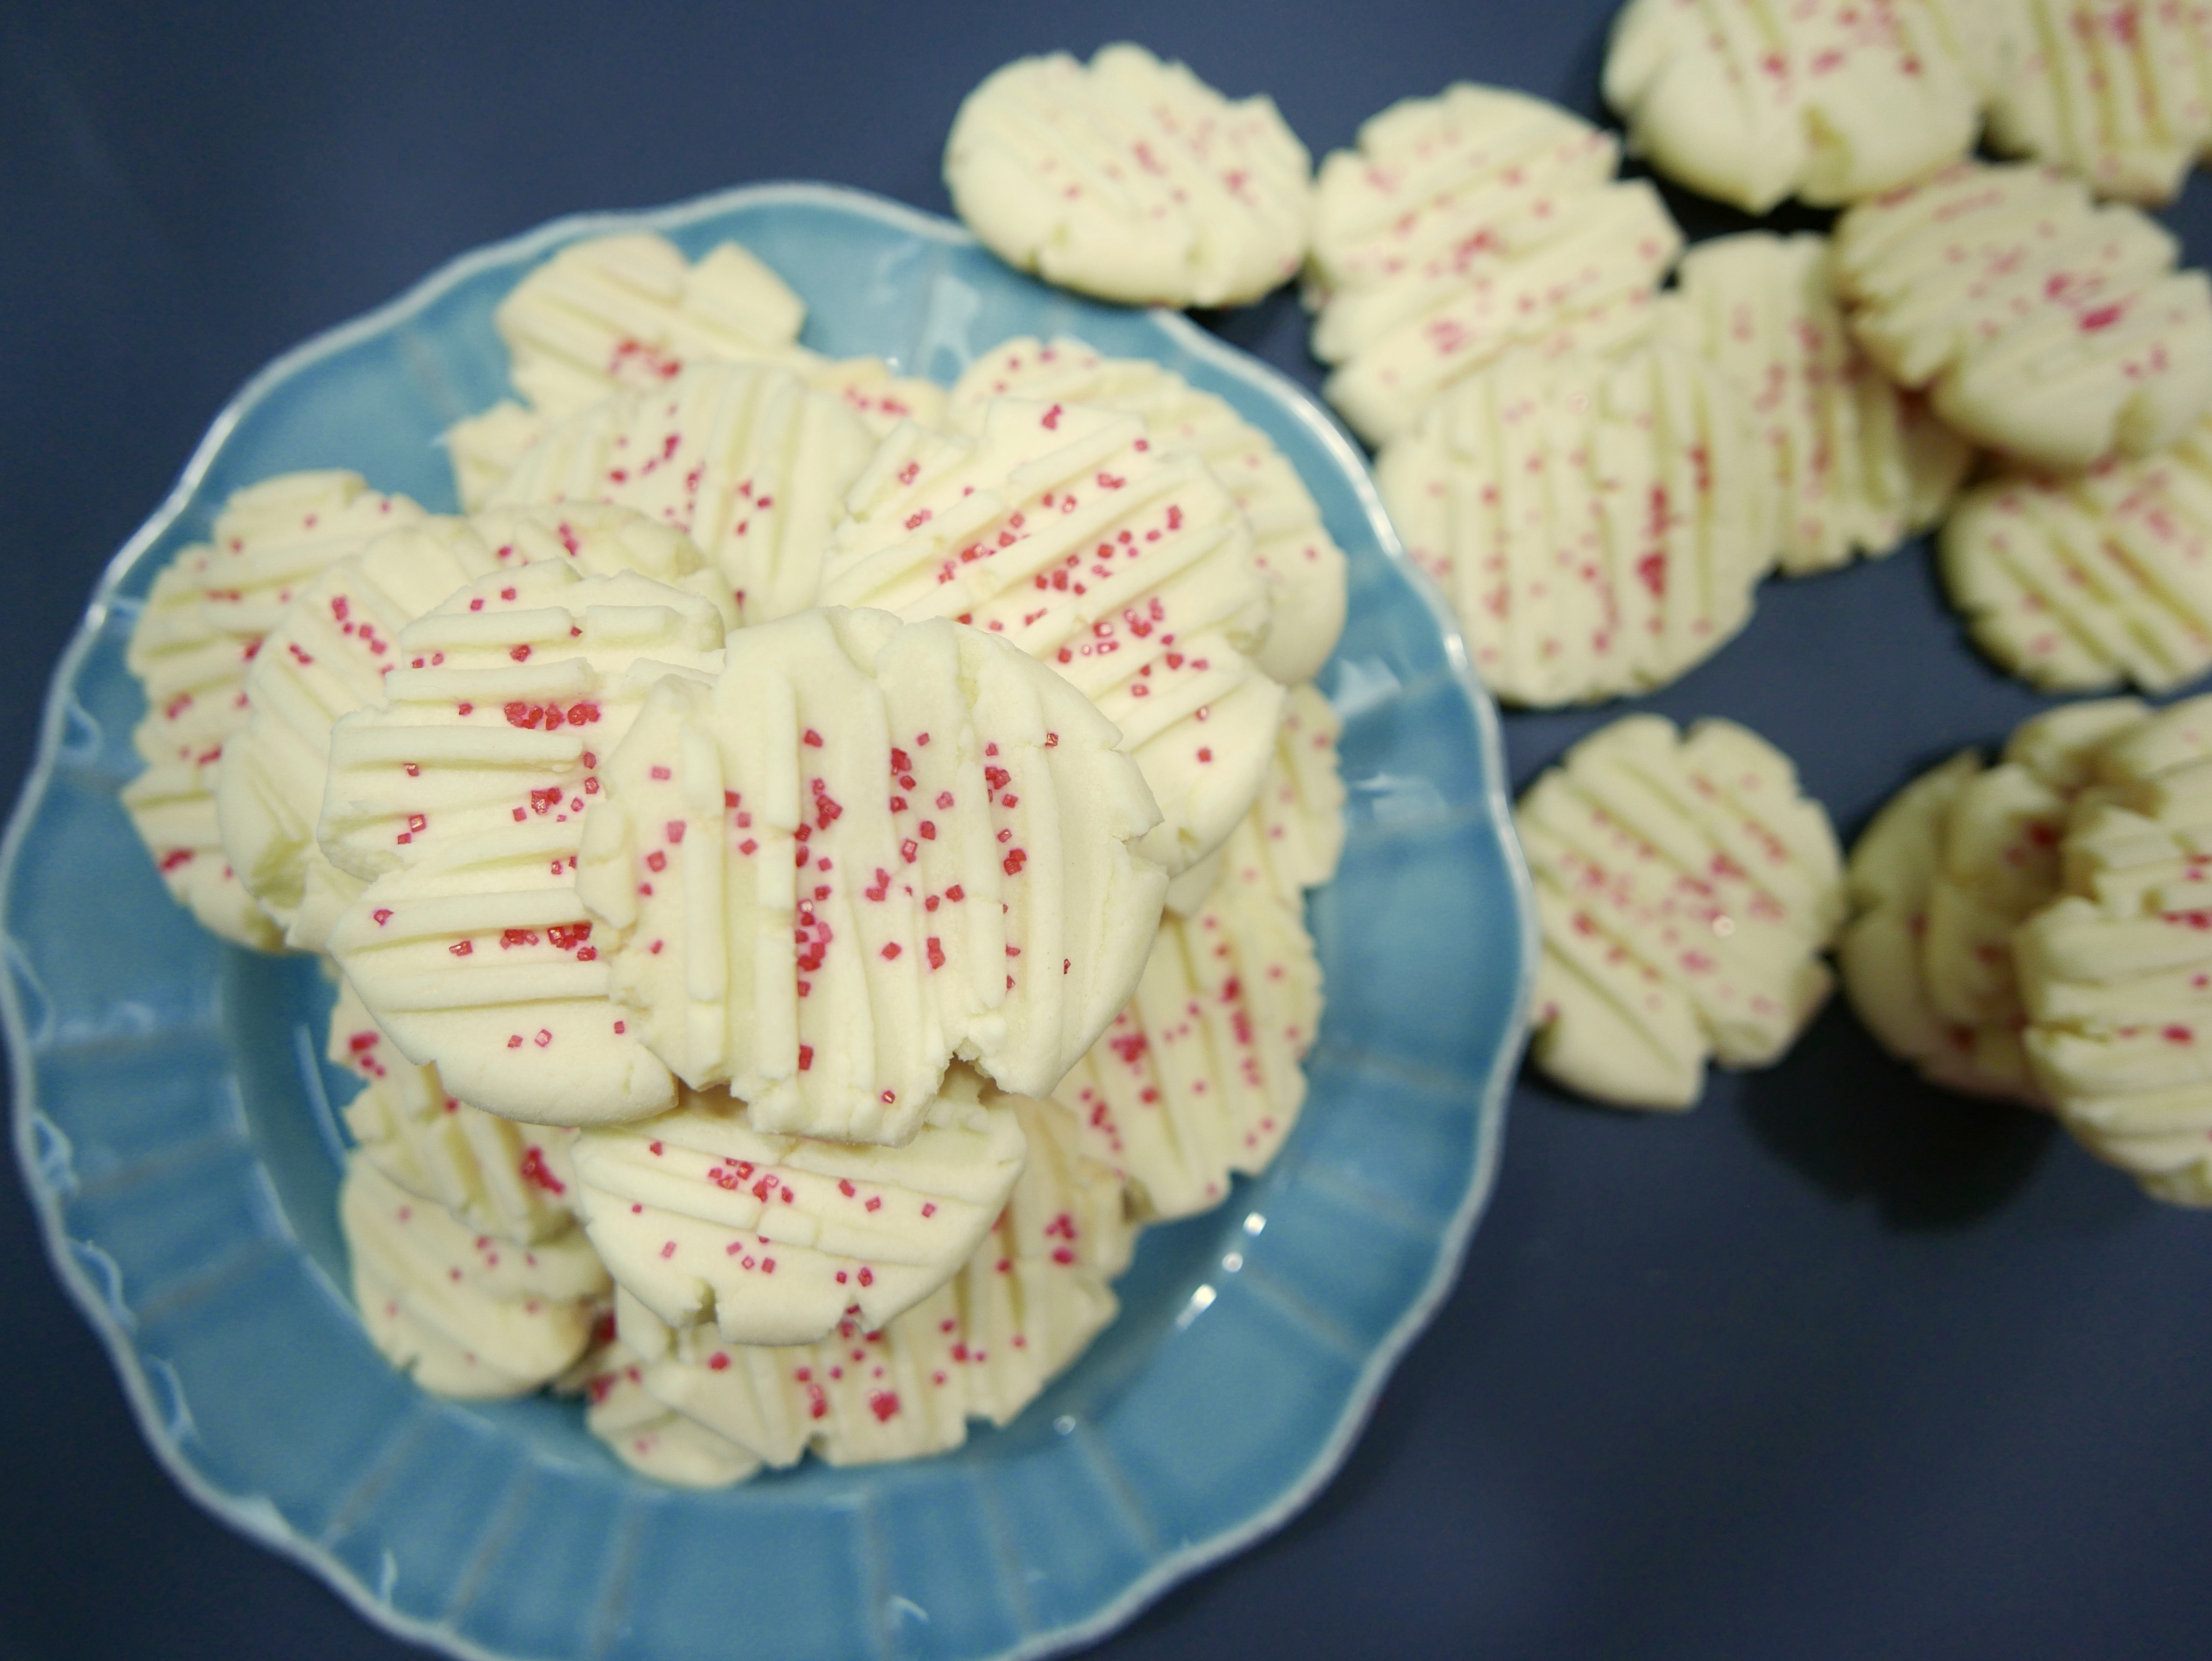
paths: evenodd
<path fill-rule="evenodd" d="M 1121 1318 L 1004 1431 L 907 1466 L 723 1493 L 630 1475 L 573 1404 L 434 1400 L 369 1347 L 334 1219 L 347 1088 L 307 960 L 170 905 L 117 790 L 144 710 L 124 639 L 241 484 L 352 467 L 451 509 L 438 433 L 507 389 L 491 307 L 562 243 L 737 237 L 805 343 L 951 380 L 1077 334 L 1221 394 L 1292 458 L 1352 560 L 1323 690 L 1345 717 L 1343 869 L 1312 902 L 1329 1009 L 1296 1135 L 1219 1212 L 1150 1230 Z M 270 365 L 117 555 L 46 701 L 0 854 L 15 1148 L 55 1267 L 177 1482 L 369 1619 L 462 1657 L 1013 1657 L 1095 1639 L 1279 1526 L 1338 1466 L 1491 1188 L 1533 964 L 1489 699 L 1358 451 L 1177 314 L 1042 288 L 958 226 L 763 186 L 564 219 L 456 261 Z"/>

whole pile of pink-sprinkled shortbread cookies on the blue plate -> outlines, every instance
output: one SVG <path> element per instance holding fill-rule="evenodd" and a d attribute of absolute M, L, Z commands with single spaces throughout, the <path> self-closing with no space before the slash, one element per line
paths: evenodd
<path fill-rule="evenodd" d="M 1305 1097 L 1345 557 L 1234 409 L 1079 341 L 796 345 L 734 243 L 498 312 L 462 515 L 239 491 L 157 575 L 126 790 L 321 953 L 369 1338 L 737 1482 L 958 1446 Z"/>

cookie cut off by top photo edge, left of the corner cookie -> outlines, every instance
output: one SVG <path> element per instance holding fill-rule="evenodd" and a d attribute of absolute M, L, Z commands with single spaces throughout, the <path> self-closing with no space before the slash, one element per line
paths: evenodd
<path fill-rule="evenodd" d="M 1980 0 L 1628 0 L 1606 102 L 1692 190 L 1765 212 L 1911 184 L 1973 148 Z"/>

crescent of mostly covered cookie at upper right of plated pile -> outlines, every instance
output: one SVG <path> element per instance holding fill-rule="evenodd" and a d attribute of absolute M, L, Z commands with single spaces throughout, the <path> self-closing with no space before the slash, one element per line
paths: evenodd
<path fill-rule="evenodd" d="M 1203 456 L 1252 526 L 1252 562 L 1272 593 L 1254 661 L 1283 686 L 1321 672 L 1345 628 L 1345 553 L 1267 433 L 1148 358 L 1104 358 L 1071 338 L 1046 345 L 1024 336 L 975 358 L 951 391 L 949 418 L 960 431 L 980 431 L 984 409 L 1004 396 L 1119 409 L 1139 416 L 1155 445 Z"/>

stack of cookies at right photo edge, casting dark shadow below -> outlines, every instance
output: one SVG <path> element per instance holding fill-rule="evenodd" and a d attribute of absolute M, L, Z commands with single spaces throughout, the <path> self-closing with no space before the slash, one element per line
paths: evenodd
<path fill-rule="evenodd" d="M 2048 1108 L 2212 1205 L 2212 699 L 2070 703 L 1951 756 L 1851 849 L 1845 991 L 1927 1077 Z"/>

